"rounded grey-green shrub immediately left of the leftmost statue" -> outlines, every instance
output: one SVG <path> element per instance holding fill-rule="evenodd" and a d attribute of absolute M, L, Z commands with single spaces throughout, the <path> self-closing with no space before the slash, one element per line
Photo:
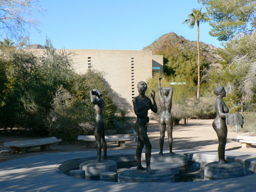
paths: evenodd
<path fill-rule="evenodd" d="M 50 135 L 65 141 L 76 140 L 78 135 L 93 134 L 94 110 L 89 103 L 74 98 L 60 86 L 48 115 Z"/>

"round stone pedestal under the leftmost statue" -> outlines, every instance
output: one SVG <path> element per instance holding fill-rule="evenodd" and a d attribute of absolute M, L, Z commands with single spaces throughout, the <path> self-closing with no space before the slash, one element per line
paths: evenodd
<path fill-rule="evenodd" d="M 116 172 L 117 163 L 113 160 L 90 160 L 81 163 L 80 169 L 86 172 L 86 179 L 99 180 L 101 172 Z"/>

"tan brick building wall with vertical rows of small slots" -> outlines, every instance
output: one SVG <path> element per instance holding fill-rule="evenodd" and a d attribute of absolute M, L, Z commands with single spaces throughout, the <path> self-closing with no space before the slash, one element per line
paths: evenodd
<path fill-rule="evenodd" d="M 33 51 L 39 56 L 43 50 L 28 51 Z M 130 109 L 132 109 L 132 97 L 138 95 L 138 81 L 146 81 L 152 77 L 152 62 L 156 61 L 157 65 L 163 63 L 161 55 L 153 56 L 151 51 L 67 49 L 66 52 L 72 53 L 73 67 L 78 74 L 86 73 L 89 68 L 103 72 L 111 88 L 110 94 L 114 102 Z"/>

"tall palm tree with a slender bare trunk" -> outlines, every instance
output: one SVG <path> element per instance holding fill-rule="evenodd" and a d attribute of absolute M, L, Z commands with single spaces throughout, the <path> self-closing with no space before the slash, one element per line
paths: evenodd
<path fill-rule="evenodd" d="M 182 24 L 188 24 L 189 28 L 194 28 L 197 22 L 197 54 L 198 54 L 198 82 L 197 82 L 197 99 L 200 94 L 200 48 L 199 48 L 199 24 L 208 22 L 209 18 L 206 13 L 201 12 L 202 8 L 193 9 L 192 13 L 188 15 L 188 19 L 184 20 Z"/>

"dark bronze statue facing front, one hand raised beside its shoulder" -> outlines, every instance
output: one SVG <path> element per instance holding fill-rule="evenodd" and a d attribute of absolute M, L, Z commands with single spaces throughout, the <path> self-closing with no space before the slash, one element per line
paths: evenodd
<path fill-rule="evenodd" d="M 153 99 L 153 103 L 150 98 L 145 96 L 145 91 L 147 89 L 147 84 L 144 81 L 139 81 L 137 84 L 139 95 L 133 98 L 133 107 L 134 112 L 137 116 L 137 120 L 134 126 L 134 130 L 138 135 L 138 143 L 136 149 L 136 162 L 137 162 L 137 170 L 145 169 L 141 165 L 141 153 L 142 148 L 145 145 L 145 159 L 146 159 L 146 171 L 150 172 L 150 159 L 151 159 L 151 142 L 147 136 L 147 123 L 150 121 L 150 118 L 147 116 L 148 110 L 152 110 L 154 113 L 157 112 L 157 104 L 155 100 L 155 92 L 152 90 L 151 97 Z"/>

